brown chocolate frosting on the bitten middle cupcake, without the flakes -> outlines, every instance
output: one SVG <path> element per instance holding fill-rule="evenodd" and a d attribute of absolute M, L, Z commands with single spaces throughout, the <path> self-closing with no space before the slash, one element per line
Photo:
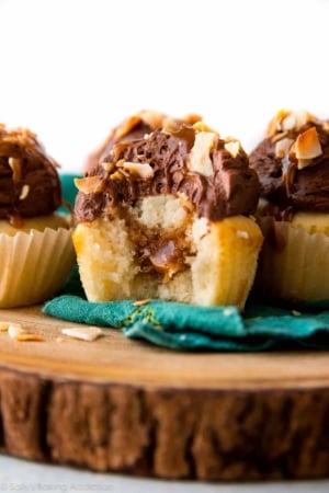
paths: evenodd
<path fill-rule="evenodd" d="M 259 199 L 259 180 L 249 168 L 241 146 L 234 157 L 226 141 L 209 153 L 213 173 L 207 176 L 191 171 L 189 153 L 194 145 L 195 129 L 182 125 L 178 130 L 157 129 L 146 138 L 115 144 L 103 162 L 86 173 L 94 184 L 86 191 L 80 186 L 75 214 L 78 221 L 92 221 L 111 216 L 121 204 L 134 205 L 139 197 L 183 193 L 198 216 L 218 220 L 235 215 L 251 215 Z M 149 177 L 127 173 L 123 162 L 143 163 L 151 168 Z M 107 171 L 106 171 L 107 170 Z"/>

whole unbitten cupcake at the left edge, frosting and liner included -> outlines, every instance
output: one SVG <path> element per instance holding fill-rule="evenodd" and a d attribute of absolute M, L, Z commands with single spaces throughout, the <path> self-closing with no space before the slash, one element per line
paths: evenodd
<path fill-rule="evenodd" d="M 58 164 L 29 129 L 0 125 L 0 307 L 42 302 L 76 260 Z"/>

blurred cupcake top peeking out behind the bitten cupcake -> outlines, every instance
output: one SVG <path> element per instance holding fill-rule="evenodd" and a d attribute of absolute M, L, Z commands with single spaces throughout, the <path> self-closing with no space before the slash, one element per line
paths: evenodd
<path fill-rule="evenodd" d="M 194 113 L 183 116 L 182 118 L 173 118 L 166 113 L 141 110 L 123 119 L 110 131 L 104 142 L 89 156 L 86 170 L 92 170 L 99 161 L 102 161 L 103 158 L 109 154 L 109 151 L 114 144 L 123 142 L 125 140 L 141 139 L 145 135 L 157 128 L 177 129 L 181 124 L 193 125 L 201 119 L 200 115 Z"/>

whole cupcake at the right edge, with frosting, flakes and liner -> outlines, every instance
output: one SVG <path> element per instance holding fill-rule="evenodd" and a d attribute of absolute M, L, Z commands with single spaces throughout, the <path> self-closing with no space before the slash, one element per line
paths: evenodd
<path fill-rule="evenodd" d="M 281 110 L 250 165 L 265 237 L 257 289 L 290 301 L 329 299 L 329 122 Z"/>

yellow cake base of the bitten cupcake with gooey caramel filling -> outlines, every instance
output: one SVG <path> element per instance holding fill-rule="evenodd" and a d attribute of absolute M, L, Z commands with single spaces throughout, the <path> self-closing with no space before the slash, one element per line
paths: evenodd
<path fill-rule="evenodd" d="M 91 301 L 160 298 L 197 305 L 245 305 L 262 242 L 243 216 L 197 218 L 183 195 L 139 198 L 73 234 Z"/>

